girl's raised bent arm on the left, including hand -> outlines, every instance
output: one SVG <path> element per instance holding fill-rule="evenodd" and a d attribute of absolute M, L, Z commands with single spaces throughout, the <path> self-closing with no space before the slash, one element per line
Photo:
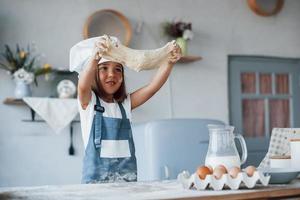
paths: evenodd
<path fill-rule="evenodd" d="M 92 97 L 92 85 L 95 79 L 95 73 L 97 72 L 98 61 L 101 59 L 100 52 L 105 52 L 107 47 L 104 45 L 102 40 L 99 40 L 95 44 L 92 56 L 90 57 L 87 65 L 85 66 L 83 72 L 79 76 L 78 80 L 78 99 L 80 101 L 82 109 L 86 109 L 91 101 Z"/>

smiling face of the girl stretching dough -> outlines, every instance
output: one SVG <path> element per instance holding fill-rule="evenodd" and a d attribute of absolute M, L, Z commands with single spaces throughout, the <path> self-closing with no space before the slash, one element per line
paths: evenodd
<path fill-rule="evenodd" d="M 123 82 L 123 67 L 116 62 L 105 62 L 99 66 L 101 86 L 108 95 L 113 95 Z"/>

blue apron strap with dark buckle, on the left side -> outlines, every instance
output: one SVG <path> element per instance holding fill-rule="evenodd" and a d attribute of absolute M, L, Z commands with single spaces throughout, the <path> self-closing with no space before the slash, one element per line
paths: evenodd
<path fill-rule="evenodd" d="M 96 111 L 96 116 L 95 116 L 95 129 L 94 129 L 94 144 L 96 148 L 100 148 L 101 147 L 101 128 L 102 128 L 102 115 L 104 112 L 104 108 L 103 108 L 103 112 L 101 112 L 100 110 L 96 109 L 96 108 L 103 108 L 101 106 L 101 103 L 99 101 L 98 96 L 96 95 L 96 105 L 94 107 L 95 111 Z"/>

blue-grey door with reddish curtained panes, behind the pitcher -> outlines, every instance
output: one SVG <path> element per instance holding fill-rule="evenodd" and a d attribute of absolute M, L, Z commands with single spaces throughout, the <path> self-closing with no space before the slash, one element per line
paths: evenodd
<path fill-rule="evenodd" d="M 230 123 L 246 139 L 246 164 L 258 165 L 274 127 L 300 127 L 300 61 L 230 56 L 228 74 Z"/>

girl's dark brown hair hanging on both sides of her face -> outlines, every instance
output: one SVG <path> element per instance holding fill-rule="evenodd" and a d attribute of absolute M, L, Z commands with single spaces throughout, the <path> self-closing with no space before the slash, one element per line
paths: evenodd
<path fill-rule="evenodd" d="M 113 94 L 114 100 L 117 101 L 118 103 L 122 103 L 127 98 L 123 66 L 122 66 L 122 78 L 123 78 L 123 80 L 122 80 L 122 83 L 121 83 L 119 89 Z M 105 98 L 107 94 L 104 91 L 103 86 L 101 85 L 101 82 L 100 82 L 99 65 L 96 68 L 94 83 L 95 84 L 92 86 L 92 90 L 101 99 Z"/>

